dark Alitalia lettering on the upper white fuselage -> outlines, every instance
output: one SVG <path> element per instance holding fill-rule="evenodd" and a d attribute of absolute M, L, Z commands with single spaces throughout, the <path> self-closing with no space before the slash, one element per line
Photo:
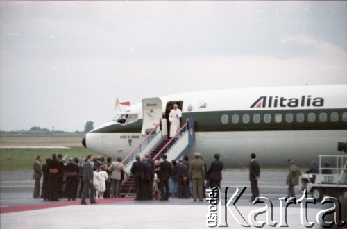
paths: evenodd
<path fill-rule="evenodd" d="M 301 96 L 300 98 L 285 98 L 280 96 L 260 96 L 251 108 L 298 108 L 323 107 L 324 99 L 321 97 Z"/>

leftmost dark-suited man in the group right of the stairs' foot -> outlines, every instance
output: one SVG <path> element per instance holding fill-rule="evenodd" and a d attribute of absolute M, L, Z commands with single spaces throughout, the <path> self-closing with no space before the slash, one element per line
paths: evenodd
<path fill-rule="evenodd" d="M 144 198 L 144 163 L 141 162 L 139 155 L 135 157 L 136 162 L 131 166 L 131 173 L 133 173 L 136 189 L 135 201 L 141 201 Z"/>

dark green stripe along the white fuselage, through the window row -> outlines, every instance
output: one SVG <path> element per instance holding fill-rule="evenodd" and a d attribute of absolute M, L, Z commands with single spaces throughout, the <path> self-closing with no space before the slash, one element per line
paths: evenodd
<path fill-rule="evenodd" d="M 226 131 L 262 131 L 262 130 L 347 130 L 347 121 L 343 120 L 343 114 L 347 109 L 312 109 L 312 110 L 239 110 L 239 111 L 213 111 L 213 112 L 185 112 L 183 113 L 183 123 L 187 118 L 194 119 L 196 132 L 226 132 Z M 326 121 L 320 121 L 319 115 L 325 113 Z M 337 113 L 338 120 L 331 121 L 331 114 Z M 237 115 L 239 121 L 232 122 L 232 116 Z M 244 123 L 242 117 L 248 114 L 249 122 Z M 260 115 L 259 123 L 255 123 L 253 117 Z M 271 121 L 264 121 L 265 115 L 271 116 Z M 293 115 L 293 121 L 286 121 L 286 114 Z M 296 116 L 303 114 L 304 121 L 297 121 Z M 314 121 L 308 121 L 308 115 L 314 114 Z M 228 117 L 228 122 L 223 123 L 222 117 Z M 280 115 L 281 121 L 276 122 L 275 116 Z M 346 115 L 346 114 L 345 114 Z M 346 117 L 345 117 L 346 119 Z M 226 121 L 226 119 L 224 119 Z M 131 124 L 117 124 L 105 126 L 91 133 L 140 133 L 142 128 L 142 119 Z"/>

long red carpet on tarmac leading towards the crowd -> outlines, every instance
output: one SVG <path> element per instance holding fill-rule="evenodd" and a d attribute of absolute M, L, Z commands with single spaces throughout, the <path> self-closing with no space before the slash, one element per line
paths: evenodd
<path fill-rule="evenodd" d="M 102 203 L 120 203 L 124 201 L 133 201 L 134 197 L 126 197 L 126 198 L 105 198 L 105 199 L 99 199 L 97 202 L 99 204 Z M 89 200 L 87 200 L 87 203 L 89 204 Z M 30 210 L 40 210 L 40 209 L 46 209 L 51 207 L 65 207 L 65 206 L 71 206 L 71 205 L 79 205 L 80 200 L 78 201 L 56 201 L 51 203 L 43 203 L 43 204 L 37 204 L 37 205 L 18 205 L 18 206 L 8 206 L 8 207 L 0 207 L 0 214 L 3 213 L 11 213 L 11 212 L 23 212 L 23 211 L 30 211 Z"/>

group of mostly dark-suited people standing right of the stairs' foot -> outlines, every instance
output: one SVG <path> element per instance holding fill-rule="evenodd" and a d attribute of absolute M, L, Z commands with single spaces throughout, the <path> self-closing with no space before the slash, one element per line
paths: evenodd
<path fill-rule="evenodd" d="M 190 162 L 187 155 L 171 162 L 167 160 L 167 155 L 162 156 L 161 162 L 153 162 L 148 154 L 142 159 L 137 155 L 135 159 L 131 167 L 135 180 L 135 201 L 168 201 L 169 197 L 192 197 L 194 201 L 203 201 L 205 187 L 221 185 L 223 162 L 219 160 L 219 154 L 214 155 L 215 160 L 209 168 L 198 152 L 194 153 L 194 160 Z"/>

